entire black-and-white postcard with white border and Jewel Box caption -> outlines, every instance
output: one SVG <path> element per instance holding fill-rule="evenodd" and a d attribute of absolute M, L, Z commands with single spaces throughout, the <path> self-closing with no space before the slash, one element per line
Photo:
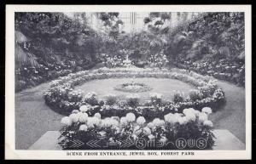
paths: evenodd
<path fill-rule="evenodd" d="M 7 10 L 7 158 L 251 158 L 250 6 L 56 7 Z"/>

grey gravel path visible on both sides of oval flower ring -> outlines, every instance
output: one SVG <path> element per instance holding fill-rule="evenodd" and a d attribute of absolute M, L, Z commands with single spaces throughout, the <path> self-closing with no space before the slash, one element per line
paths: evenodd
<path fill-rule="evenodd" d="M 228 129 L 238 139 L 245 142 L 245 90 L 229 82 L 219 81 L 218 85 L 224 89 L 227 103 L 223 109 L 213 113 L 210 119 L 215 128 Z M 15 93 L 15 146 L 17 150 L 26 150 L 47 131 L 61 128 L 62 116 L 44 104 L 43 93 L 48 88 L 49 83 L 44 83 Z"/>

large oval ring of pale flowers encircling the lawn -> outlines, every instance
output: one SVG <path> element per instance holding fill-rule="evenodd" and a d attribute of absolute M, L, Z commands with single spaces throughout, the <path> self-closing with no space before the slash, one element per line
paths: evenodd
<path fill-rule="evenodd" d="M 189 97 L 184 98 L 181 93 L 175 93 L 174 99 L 162 102 L 159 95 L 151 96 L 151 101 L 141 104 L 135 100 L 136 95 L 131 95 L 125 102 L 120 101 L 114 105 L 108 104 L 104 100 L 96 99 L 95 95 L 87 94 L 83 98 L 82 91 L 74 90 L 77 85 L 96 79 L 106 78 L 125 78 L 125 77 L 154 77 L 154 78 L 172 78 L 195 86 L 194 90 L 189 92 Z M 133 97 L 133 98 L 132 98 Z M 212 81 L 210 76 L 201 76 L 192 71 L 179 69 L 141 69 L 141 68 L 102 68 L 94 71 L 80 71 L 69 74 L 55 80 L 51 88 L 44 93 L 45 103 L 61 113 L 70 113 L 72 110 L 79 110 L 81 105 L 95 106 L 95 110 L 108 109 L 107 114 L 123 113 L 130 110 L 136 110 L 146 117 L 162 116 L 172 110 L 181 112 L 184 108 L 195 108 L 201 110 L 204 106 L 209 106 L 212 110 L 218 109 L 219 105 L 224 103 L 224 93 L 221 88 Z M 111 110 L 109 110 L 111 109 Z M 102 111 L 104 112 L 104 111 Z"/>

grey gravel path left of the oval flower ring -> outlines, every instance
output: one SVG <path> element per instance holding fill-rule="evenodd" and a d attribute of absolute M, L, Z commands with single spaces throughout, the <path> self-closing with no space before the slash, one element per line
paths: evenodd
<path fill-rule="evenodd" d="M 16 149 L 28 149 L 49 130 L 61 128 L 61 115 L 44 104 L 43 94 L 49 82 L 15 93 Z"/>

